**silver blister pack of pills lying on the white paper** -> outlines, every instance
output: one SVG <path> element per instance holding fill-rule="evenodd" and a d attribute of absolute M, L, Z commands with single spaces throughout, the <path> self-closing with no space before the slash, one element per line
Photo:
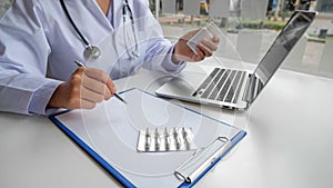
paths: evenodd
<path fill-rule="evenodd" d="M 194 135 L 191 128 L 147 128 L 139 131 L 138 150 L 142 152 L 165 152 L 194 150 Z"/>

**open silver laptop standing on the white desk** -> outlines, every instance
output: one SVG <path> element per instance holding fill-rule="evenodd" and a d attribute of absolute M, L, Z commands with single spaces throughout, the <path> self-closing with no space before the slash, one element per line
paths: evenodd
<path fill-rule="evenodd" d="M 191 102 L 246 109 L 268 85 L 315 16 L 314 11 L 295 11 L 254 72 L 221 67 L 214 68 L 209 75 L 183 72 L 160 87 L 155 93 Z"/>

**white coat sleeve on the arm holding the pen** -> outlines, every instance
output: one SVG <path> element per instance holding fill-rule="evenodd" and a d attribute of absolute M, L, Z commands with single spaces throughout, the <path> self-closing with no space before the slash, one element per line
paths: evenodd
<path fill-rule="evenodd" d="M 37 0 L 16 1 L 0 21 L 0 110 L 46 115 L 61 81 L 46 78 L 50 47 Z"/>

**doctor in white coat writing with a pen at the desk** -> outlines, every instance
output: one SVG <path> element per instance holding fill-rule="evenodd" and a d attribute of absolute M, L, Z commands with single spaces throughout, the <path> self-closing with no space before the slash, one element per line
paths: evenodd
<path fill-rule="evenodd" d="M 214 37 L 203 39 L 194 55 L 186 46 L 196 32 L 192 31 L 175 44 L 162 36 L 142 46 L 137 41 L 131 49 L 124 41 L 127 50 L 133 50 L 132 60 L 117 61 L 109 73 L 74 63 L 99 59 L 103 55 L 98 43 L 105 36 L 148 17 L 152 14 L 145 0 L 14 1 L 0 21 L 0 110 L 47 115 L 58 108 L 90 109 L 117 91 L 112 79 L 141 67 L 178 73 L 184 61 L 202 60 L 216 50 Z"/>

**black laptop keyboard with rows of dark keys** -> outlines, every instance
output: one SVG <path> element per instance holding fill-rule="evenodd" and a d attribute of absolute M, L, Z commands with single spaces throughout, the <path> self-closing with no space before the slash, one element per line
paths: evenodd
<path fill-rule="evenodd" d="M 236 103 L 245 71 L 215 68 L 193 96 Z"/>

